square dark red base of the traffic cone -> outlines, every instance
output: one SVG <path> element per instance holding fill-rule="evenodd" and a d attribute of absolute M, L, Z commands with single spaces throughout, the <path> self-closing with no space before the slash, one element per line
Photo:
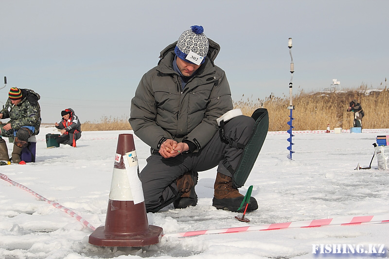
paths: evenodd
<path fill-rule="evenodd" d="M 97 246 L 147 246 L 159 243 L 163 230 L 159 226 L 149 225 L 149 231 L 145 234 L 110 235 L 104 232 L 104 226 L 100 226 L 89 236 L 89 243 Z"/>

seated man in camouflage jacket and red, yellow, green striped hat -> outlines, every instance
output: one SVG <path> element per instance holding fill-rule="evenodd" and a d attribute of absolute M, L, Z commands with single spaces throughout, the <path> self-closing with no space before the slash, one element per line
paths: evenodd
<path fill-rule="evenodd" d="M 12 162 L 24 164 L 20 159 L 21 151 L 28 145 L 28 138 L 39 133 L 40 106 L 39 94 L 30 89 L 12 87 L 8 100 L 0 111 L 0 119 L 10 119 L 0 123 L 0 160 L 10 161 L 7 145 L 1 137 L 14 137 Z"/>

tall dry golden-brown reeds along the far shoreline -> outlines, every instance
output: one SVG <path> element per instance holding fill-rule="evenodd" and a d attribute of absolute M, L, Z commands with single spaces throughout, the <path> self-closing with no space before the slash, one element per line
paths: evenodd
<path fill-rule="evenodd" d="M 244 96 L 243 96 L 244 97 Z M 367 86 L 357 89 L 332 92 L 304 93 L 293 96 L 294 130 L 325 130 L 341 127 L 349 129 L 353 126 L 353 112 L 347 112 L 351 100 L 356 99 L 365 112 L 362 120 L 363 128 L 389 128 L 388 103 L 389 89 L 369 90 Z M 234 108 L 240 108 L 243 114 L 251 116 L 257 108 L 266 108 L 269 112 L 269 131 L 286 131 L 289 125 L 289 97 L 269 96 L 265 100 L 246 100 L 234 102 Z M 128 118 L 103 117 L 99 122 L 86 121 L 82 131 L 131 130 Z"/>

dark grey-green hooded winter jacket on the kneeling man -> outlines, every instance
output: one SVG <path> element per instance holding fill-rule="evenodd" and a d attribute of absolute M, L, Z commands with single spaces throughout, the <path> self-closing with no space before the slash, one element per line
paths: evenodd
<path fill-rule="evenodd" d="M 213 63 L 220 46 L 208 40 L 208 58 L 183 90 L 173 69 L 177 41 L 160 53 L 158 66 L 143 75 L 131 100 L 129 122 L 151 148 L 159 150 L 171 138 L 195 143 L 197 152 L 218 130 L 216 119 L 233 109 L 225 72 Z"/>

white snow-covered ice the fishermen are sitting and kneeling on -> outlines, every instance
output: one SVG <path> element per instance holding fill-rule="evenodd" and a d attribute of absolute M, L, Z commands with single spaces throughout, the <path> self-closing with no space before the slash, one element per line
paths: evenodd
<path fill-rule="evenodd" d="M 35 163 L 1 166 L 0 173 L 70 208 L 94 227 L 104 225 L 117 139 L 119 134 L 132 132 L 83 132 L 77 148 L 61 145 L 49 149 L 47 133 L 57 131 L 41 129 L 36 137 Z M 246 214 L 249 223 L 236 220 L 239 213 L 212 207 L 216 168 L 199 173 L 197 206 L 175 209 L 170 205 L 148 213 L 148 223 L 169 234 L 389 213 L 389 172 L 377 170 L 375 157 L 370 170 L 354 170 L 358 163 L 369 166 L 374 153 L 372 143 L 377 135 L 389 135 L 389 129 L 295 135 L 296 153 L 290 160 L 286 158 L 289 135 L 268 133 L 246 185 L 240 189 L 245 194 L 253 185 L 252 196 L 258 201 L 259 209 Z M 149 147 L 136 136 L 134 140 L 142 169 Z M 8 149 L 11 154 L 11 144 Z M 162 237 L 158 244 L 146 247 L 98 247 L 88 243 L 92 230 L 85 224 L 0 179 L 1 259 L 316 258 L 312 253 L 314 244 L 385 244 L 387 251 L 388 232 L 389 224 L 339 225 Z"/>

